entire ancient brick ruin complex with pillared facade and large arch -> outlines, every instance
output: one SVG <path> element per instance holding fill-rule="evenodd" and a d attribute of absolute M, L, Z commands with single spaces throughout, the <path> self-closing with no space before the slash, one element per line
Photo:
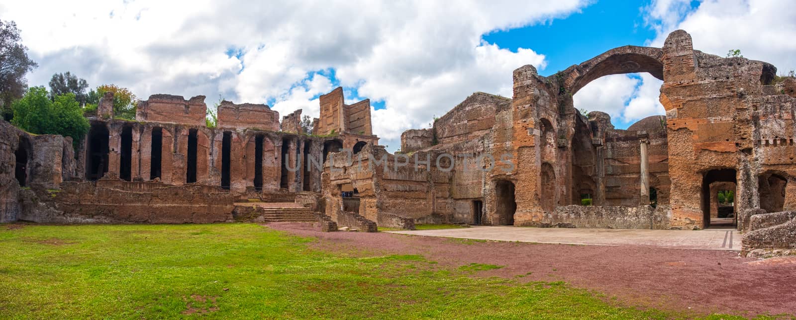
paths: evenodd
<path fill-rule="evenodd" d="M 573 106 L 592 80 L 632 72 L 663 80 L 665 116 L 619 130 Z M 796 249 L 796 79 L 695 50 L 682 30 L 553 76 L 517 68 L 511 98 L 476 92 L 405 131 L 396 154 L 378 146 L 369 100 L 346 105 L 341 88 L 321 96 L 312 133 L 301 111 L 279 123 L 262 104 L 224 101 L 209 128 L 204 96 L 150 96 L 136 121 L 113 119 L 111 100 L 76 152 L 0 123 L 0 221 L 726 225 L 744 252 Z"/>

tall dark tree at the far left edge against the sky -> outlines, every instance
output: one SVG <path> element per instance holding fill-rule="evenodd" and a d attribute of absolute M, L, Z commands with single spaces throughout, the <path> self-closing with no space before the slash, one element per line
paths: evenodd
<path fill-rule="evenodd" d="M 21 44 L 17 24 L 0 20 L 0 113 L 6 120 L 14 115 L 11 102 L 23 96 L 28 88 L 25 73 L 38 65 L 30 60 L 27 50 Z"/>

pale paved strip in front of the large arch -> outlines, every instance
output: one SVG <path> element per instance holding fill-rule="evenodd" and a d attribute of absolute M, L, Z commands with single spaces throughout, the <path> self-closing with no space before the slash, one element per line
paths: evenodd
<path fill-rule="evenodd" d="M 664 248 L 740 251 L 741 235 L 734 229 L 646 230 L 588 228 L 525 228 L 473 226 L 438 230 L 391 231 L 419 236 L 536 242 L 540 244 L 649 245 Z"/>

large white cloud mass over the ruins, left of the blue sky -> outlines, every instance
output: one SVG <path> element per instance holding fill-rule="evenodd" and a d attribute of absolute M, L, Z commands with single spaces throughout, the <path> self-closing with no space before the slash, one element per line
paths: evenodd
<path fill-rule="evenodd" d="M 510 96 L 513 68 L 544 67 L 544 56 L 532 50 L 482 43 L 484 33 L 561 18 L 584 5 L 18 1 L 0 4 L 0 15 L 17 21 L 40 64 L 29 84 L 71 71 L 92 85 L 119 84 L 144 98 L 171 93 L 220 95 L 236 103 L 275 100 L 280 112 L 305 107 L 304 114 L 317 115 L 317 101 L 310 100 L 317 90 L 307 87 L 306 76 L 333 68 L 341 85 L 384 101 L 387 109 L 373 112 L 373 127 L 384 141 L 395 141 L 404 129 L 422 127 L 472 92 Z M 240 57 L 228 57 L 229 49 L 240 50 Z M 398 143 L 389 145 L 395 150 Z"/>

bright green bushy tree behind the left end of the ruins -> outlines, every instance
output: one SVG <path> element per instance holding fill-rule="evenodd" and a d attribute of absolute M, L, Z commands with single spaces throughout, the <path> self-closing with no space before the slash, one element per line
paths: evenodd
<path fill-rule="evenodd" d="M 77 146 L 89 127 L 80 103 L 72 93 L 57 96 L 54 101 L 49 96 L 44 87 L 30 88 L 12 104 L 14 119 L 11 123 L 37 135 L 72 137 L 73 146 Z"/>

